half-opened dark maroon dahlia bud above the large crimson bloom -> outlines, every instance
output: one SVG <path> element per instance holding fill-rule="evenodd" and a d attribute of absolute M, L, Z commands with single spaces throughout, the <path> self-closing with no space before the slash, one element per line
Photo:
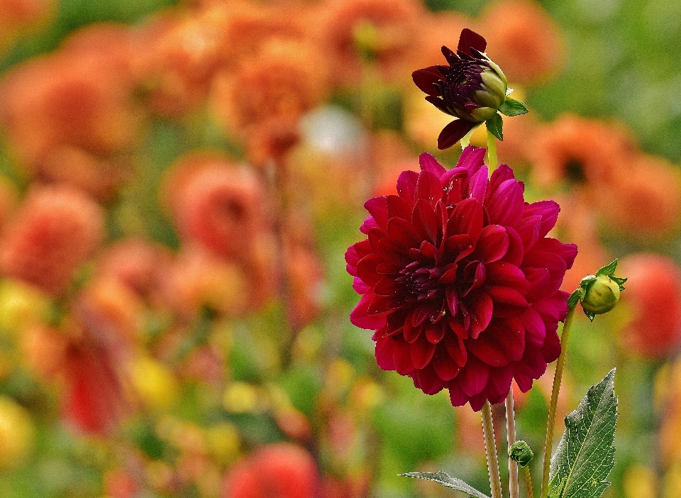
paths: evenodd
<path fill-rule="evenodd" d="M 442 48 L 448 65 L 425 67 L 411 74 L 416 86 L 428 94 L 428 102 L 459 118 L 440 133 L 438 148 L 451 147 L 476 123 L 494 118 L 506 101 L 508 82 L 501 68 L 485 55 L 486 47 L 485 38 L 466 28 L 456 52 Z"/>

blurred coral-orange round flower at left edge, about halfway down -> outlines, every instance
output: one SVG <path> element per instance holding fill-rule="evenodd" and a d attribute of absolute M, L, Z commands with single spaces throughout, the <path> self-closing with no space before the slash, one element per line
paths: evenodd
<path fill-rule="evenodd" d="M 0 240 L 0 270 L 49 294 L 60 294 L 104 238 L 104 213 L 64 187 L 28 194 Z"/>

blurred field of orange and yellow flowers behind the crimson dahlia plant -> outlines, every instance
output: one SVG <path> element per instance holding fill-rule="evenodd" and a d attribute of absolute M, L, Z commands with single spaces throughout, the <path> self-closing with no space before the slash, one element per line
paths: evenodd
<path fill-rule="evenodd" d="M 411 73 L 465 27 L 530 109 L 499 161 L 561 206 L 563 290 L 629 279 L 575 320 L 557 438 L 616 366 L 604 496 L 681 496 L 679 2 L 0 0 L 0 497 L 487 489 L 480 414 L 381 370 L 344 260 L 366 199 L 456 164 Z M 537 455 L 552 368 L 514 387 Z"/>

